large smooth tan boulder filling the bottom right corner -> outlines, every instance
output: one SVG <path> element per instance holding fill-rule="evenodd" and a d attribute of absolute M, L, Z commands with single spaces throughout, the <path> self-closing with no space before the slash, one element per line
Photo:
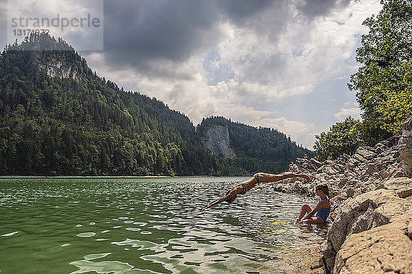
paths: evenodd
<path fill-rule="evenodd" d="M 337 253 L 334 274 L 412 273 L 412 212 L 353 234 Z"/>

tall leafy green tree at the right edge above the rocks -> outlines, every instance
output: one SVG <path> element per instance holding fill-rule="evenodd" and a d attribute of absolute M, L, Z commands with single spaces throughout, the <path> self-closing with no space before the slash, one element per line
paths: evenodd
<path fill-rule="evenodd" d="M 369 33 L 356 51 L 363 66 L 348 84 L 364 111 L 357 129 L 365 145 L 400 134 L 412 114 L 412 1 L 381 3 L 380 13 L 363 23 Z"/>

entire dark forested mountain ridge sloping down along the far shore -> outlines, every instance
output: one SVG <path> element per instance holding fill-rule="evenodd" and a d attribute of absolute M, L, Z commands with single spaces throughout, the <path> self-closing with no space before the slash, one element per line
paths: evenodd
<path fill-rule="evenodd" d="M 205 145 L 214 123 L 227 128 L 231 158 Z M 163 102 L 99 77 L 47 34 L 0 55 L 0 138 L 1 175 L 244 175 L 312 155 L 273 129 L 222 117 L 196 128 Z"/>

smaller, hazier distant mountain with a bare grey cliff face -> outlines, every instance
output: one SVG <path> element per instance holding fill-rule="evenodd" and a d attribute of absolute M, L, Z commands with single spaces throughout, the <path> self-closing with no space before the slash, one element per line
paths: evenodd
<path fill-rule="evenodd" d="M 203 119 L 196 132 L 207 149 L 245 171 L 278 173 L 304 154 L 308 158 L 315 155 L 277 129 L 251 127 L 222 116 Z"/>

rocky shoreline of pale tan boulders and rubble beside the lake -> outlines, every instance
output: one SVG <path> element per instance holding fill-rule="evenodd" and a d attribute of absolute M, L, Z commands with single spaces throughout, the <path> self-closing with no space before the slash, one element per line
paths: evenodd
<path fill-rule="evenodd" d="M 412 273 L 412 117 L 402 130 L 333 161 L 298 158 L 290 171 L 314 179 L 273 185 L 310 197 L 320 182 L 330 188 L 328 239 L 286 258 L 288 273 Z M 302 255 L 309 259 L 295 262 Z"/>

